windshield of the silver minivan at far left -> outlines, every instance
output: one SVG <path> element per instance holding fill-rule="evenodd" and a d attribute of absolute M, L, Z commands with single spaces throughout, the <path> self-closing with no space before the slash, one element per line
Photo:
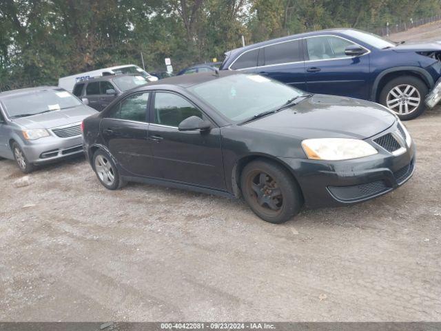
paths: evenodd
<path fill-rule="evenodd" d="M 2 102 L 10 118 L 27 117 L 82 104 L 79 99 L 62 88 L 12 94 L 4 98 Z"/>

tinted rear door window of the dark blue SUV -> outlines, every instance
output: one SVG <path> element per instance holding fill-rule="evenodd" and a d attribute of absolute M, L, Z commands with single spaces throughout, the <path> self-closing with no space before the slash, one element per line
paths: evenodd
<path fill-rule="evenodd" d="M 265 47 L 265 66 L 298 61 L 303 61 L 298 40 Z"/>

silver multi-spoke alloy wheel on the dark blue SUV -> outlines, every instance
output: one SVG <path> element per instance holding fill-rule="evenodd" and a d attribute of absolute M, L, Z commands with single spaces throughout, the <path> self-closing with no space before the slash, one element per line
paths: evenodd
<path fill-rule="evenodd" d="M 386 98 L 387 108 L 397 114 L 411 114 L 421 103 L 420 92 L 414 86 L 402 84 L 392 88 Z"/>

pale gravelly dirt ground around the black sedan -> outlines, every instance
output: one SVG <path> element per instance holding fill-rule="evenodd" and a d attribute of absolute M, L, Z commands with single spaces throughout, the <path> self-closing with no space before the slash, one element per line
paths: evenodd
<path fill-rule="evenodd" d="M 441 321 L 441 107 L 407 122 L 402 188 L 283 225 L 240 201 L 131 184 L 84 159 L 0 161 L 0 321 Z"/>

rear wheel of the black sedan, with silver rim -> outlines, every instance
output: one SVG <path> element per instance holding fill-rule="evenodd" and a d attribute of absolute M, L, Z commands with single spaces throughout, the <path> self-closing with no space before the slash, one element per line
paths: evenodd
<path fill-rule="evenodd" d="M 92 157 L 94 171 L 100 183 L 108 190 L 119 190 L 127 185 L 121 177 L 112 157 L 104 150 L 96 150 Z"/>

